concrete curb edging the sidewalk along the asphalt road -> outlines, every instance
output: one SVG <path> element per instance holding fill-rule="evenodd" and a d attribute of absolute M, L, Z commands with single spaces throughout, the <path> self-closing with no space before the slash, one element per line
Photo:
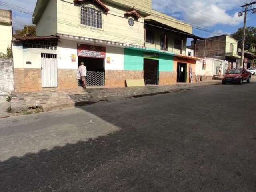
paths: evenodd
<path fill-rule="evenodd" d="M 132 95 L 124 95 L 124 96 L 108 96 L 108 97 L 102 97 L 102 98 L 91 98 L 90 100 L 83 100 L 79 102 L 68 102 L 68 103 L 62 103 L 62 104 L 54 104 L 54 105 L 44 105 L 42 104 L 40 107 L 42 108 L 43 112 L 53 111 L 53 110 L 60 110 L 65 108 L 72 108 L 72 107 L 82 107 L 90 104 L 95 104 L 97 102 L 101 101 L 114 101 L 114 100 L 122 100 L 122 99 L 128 99 L 128 98 L 140 98 L 140 97 L 146 97 L 146 96 L 154 96 L 159 94 L 168 94 L 172 92 L 181 92 L 181 91 L 187 91 L 191 90 L 193 88 L 199 87 L 199 86 L 206 86 L 206 85 L 214 85 L 214 84 L 221 84 L 221 82 L 202 82 L 202 83 L 195 83 L 195 84 L 181 84 L 177 86 L 174 86 L 174 88 L 171 88 L 166 91 L 159 91 L 159 92 L 151 92 L 151 93 L 145 93 L 145 94 L 132 94 Z M 16 113 L 16 115 L 23 114 L 21 108 L 11 106 L 12 113 Z"/>

